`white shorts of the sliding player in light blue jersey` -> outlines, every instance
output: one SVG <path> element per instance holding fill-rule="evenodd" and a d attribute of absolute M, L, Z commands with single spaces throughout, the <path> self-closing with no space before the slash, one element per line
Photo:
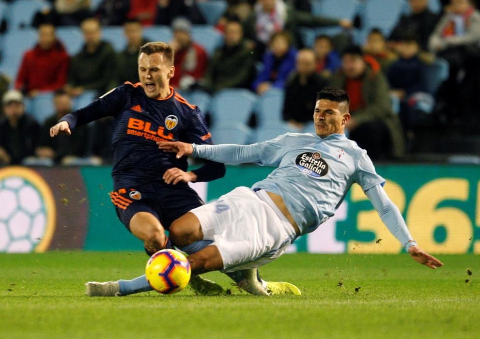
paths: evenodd
<path fill-rule="evenodd" d="M 292 224 L 263 190 L 237 187 L 190 212 L 200 220 L 203 239 L 220 251 L 224 272 L 272 262 L 296 238 Z"/>

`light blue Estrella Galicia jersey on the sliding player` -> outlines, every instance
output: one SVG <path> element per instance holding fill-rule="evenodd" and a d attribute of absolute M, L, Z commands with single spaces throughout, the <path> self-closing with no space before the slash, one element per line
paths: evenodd
<path fill-rule="evenodd" d="M 195 145 L 194 156 L 218 162 L 277 166 L 252 186 L 283 198 L 302 234 L 333 216 L 353 183 L 383 185 L 367 152 L 344 134 L 287 133 L 251 145 Z"/>

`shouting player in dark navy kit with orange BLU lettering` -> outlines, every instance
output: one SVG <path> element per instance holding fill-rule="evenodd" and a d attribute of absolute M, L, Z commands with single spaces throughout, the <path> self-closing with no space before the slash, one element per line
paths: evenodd
<path fill-rule="evenodd" d="M 149 255 L 171 247 L 165 230 L 175 219 L 202 205 L 187 183 L 211 181 L 225 174 L 223 164 L 208 160 L 203 167 L 188 171 L 187 157 L 177 159 L 157 148 L 157 141 L 212 144 L 200 109 L 170 87 L 174 71 L 172 48 L 162 42 L 147 43 L 140 47 L 139 83 L 124 83 L 85 108 L 65 115 L 50 129 L 51 137 L 70 135 L 76 126 L 114 117 L 114 191 L 110 198 L 122 223 L 144 242 Z M 256 271 L 248 273 L 257 277 Z M 140 282 L 145 277 L 137 279 Z M 135 289 L 136 282 L 89 282 L 86 293 L 124 295 L 122 292 L 130 293 L 132 286 Z M 193 277 L 190 285 L 203 294 L 223 293 L 221 286 L 199 276 Z"/>

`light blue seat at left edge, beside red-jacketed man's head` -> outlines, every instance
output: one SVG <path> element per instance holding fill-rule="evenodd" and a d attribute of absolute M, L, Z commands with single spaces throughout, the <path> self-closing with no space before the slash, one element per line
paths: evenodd
<path fill-rule="evenodd" d="M 33 29 L 9 31 L 3 36 L 2 56 L 5 59 L 20 59 L 27 49 L 37 42 L 37 33 Z"/>

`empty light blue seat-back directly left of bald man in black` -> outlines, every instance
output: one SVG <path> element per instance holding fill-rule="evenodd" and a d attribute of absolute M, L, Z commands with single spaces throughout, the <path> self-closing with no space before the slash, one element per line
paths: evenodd
<path fill-rule="evenodd" d="M 285 94 L 279 89 L 270 89 L 258 98 L 257 125 L 259 128 L 283 127 L 283 101 Z"/>

